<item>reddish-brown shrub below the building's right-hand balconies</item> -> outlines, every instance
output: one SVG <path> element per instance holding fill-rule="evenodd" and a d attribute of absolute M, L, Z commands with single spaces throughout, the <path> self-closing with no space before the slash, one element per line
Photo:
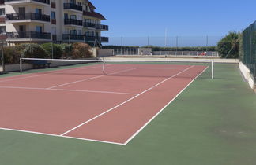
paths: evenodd
<path fill-rule="evenodd" d="M 74 43 L 72 49 L 72 58 L 88 58 L 92 57 L 91 47 L 86 43 Z"/>

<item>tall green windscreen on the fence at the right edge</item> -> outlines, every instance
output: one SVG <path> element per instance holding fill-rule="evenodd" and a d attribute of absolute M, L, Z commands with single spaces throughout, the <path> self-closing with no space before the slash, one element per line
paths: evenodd
<path fill-rule="evenodd" d="M 247 65 L 256 78 L 256 22 L 243 31 L 243 50 L 240 60 Z"/>

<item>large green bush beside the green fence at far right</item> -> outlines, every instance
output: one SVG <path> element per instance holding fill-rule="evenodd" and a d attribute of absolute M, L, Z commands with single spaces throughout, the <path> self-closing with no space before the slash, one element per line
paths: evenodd
<path fill-rule="evenodd" d="M 229 32 L 218 42 L 217 50 L 221 57 L 238 58 L 239 57 L 239 33 Z"/>

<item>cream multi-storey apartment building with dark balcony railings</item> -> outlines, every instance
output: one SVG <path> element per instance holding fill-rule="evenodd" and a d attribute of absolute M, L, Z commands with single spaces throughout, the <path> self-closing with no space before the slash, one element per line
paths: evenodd
<path fill-rule="evenodd" d="M 88 0 L 0 0 L 0 32 L 9 44 L 22 42 L 108 42 L 108 26 Z M 4 34 L 4 35 L 3 35 Z M 2 38 L 0 37 L 0 38 Z"/>

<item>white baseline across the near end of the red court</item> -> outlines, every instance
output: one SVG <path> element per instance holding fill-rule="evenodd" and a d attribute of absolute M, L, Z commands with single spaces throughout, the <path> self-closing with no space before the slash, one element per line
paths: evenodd
<path fill-rule="evenodd" d="M 88 139 L 88 138 L 75 138 L 70 136 L 60 136 L 58 134 L 46 134 L 46 133 L 40 133 L 40 132 L 34 132 L 34 131 L 28 131 L 28 130 L 16 130 L 16 129 L 2 128 L 2 127 L 0 127 L 0 130 L 11 130 L 11 131 L 24 132 L 24 133 L 30 133 L 30 134 L 47 135 L 47 136 L 58 137 L 58 138 L 70 138 L 70 139 L 77 139 L 77 140 L 83 140 L 83 141 L 94 141 L 94 142 L 107 143 L 111 145 L 124 145 L 122 143 L 115 143 L 111 141 L 98 141 L 98 140 Z"/>

